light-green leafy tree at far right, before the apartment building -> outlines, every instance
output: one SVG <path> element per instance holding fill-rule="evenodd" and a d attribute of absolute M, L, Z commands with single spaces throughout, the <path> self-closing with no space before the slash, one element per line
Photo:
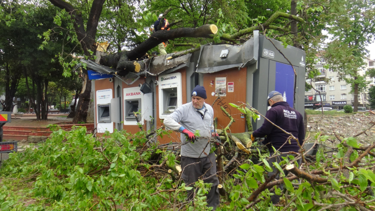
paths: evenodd
<path fill-rule="evenodd" d="M 325 58 L 339 80 L 351 84 L 354 112 L 358 111 L 358 94 L 367 86 L 362 71 L 366 46 L 375 35 L 374 5 L 374 0 L 346 0 L 343 10 L 337 10 L 335 18 L 328 22 L 328 32 L 333 37 L 325 49 Z"/>

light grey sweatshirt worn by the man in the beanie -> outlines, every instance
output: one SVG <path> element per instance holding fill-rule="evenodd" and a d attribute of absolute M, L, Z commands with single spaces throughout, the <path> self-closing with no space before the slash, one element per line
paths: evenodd
<path fill-rule="evenodd" d="M 199 130 L 200 137 L 211 137 L 211 131 L 214 130 L 214 109 L 209 104 L 204 104 L 205 115 L 202 119 L 200 112 L 193 107 L 192 102 L 179 106 L 172 114 L 164 119 L 164 125 L 178 131 L 181 126 L 188 131 L 195 133 Z M 181 142 L 186 141 L 186 136 L 181 133 Z M 209 144 L 205 149 L 206 154 L 202 153 L 207 145 L 208 139 L 199 139 L 195 143 L 188 143 L 181 146 L 181 156 L 190 158 L 206 157 L 211 150 Z"/>

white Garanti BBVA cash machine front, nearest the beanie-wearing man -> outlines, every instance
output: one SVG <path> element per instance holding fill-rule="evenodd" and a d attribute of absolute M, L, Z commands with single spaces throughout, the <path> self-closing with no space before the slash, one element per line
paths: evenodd
<path fill-rule="evenodd" d="M 181 73 L 159 76 L 159 118 L 165 119 L 182 105 Z"/>

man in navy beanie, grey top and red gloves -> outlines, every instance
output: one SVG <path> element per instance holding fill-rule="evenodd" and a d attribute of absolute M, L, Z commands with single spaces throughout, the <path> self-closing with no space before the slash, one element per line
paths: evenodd
<path fill-rule="evenodd" d="M 199 179 L 211 183 L 207 194 L 208 207 L 216 210 L 220 203 L 219 179 L 216 176 L 215 153 L 210 154 L 211 145 L 208 139 L 196 139 L 194 133 L 199 131 L 200 137 L 218 136 L 214 131 L 214 110 L 205 103 L 206 89 L 197 85 L 191 92 L 191 102 L 179 106 L 164 119 L 164 125 L 171 130 L 181 132 L 182 179 L 187 187 L 194 187 Z M 194 202 L 194 189 L 187 191 L 188 201 Z"/>

